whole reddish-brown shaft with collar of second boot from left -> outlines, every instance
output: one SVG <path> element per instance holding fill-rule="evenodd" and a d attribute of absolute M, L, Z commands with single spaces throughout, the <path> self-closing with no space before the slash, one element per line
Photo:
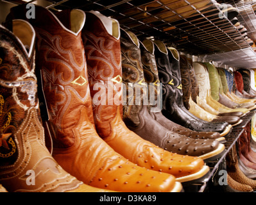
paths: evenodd
<path fill-rule="evenodd" d="M 12 8 L 8 18 L 26 19 L 24 6 Z M 65 10 L 56 16 L 35 6 L 35 15 L 29 21 L 36 31 L 36 71 L 42 72 L 42 90 L 49 112 L 46 134 L 51 133 L 54 147 L 70 147 L 75 141 L 72 129 L 80 126 L 80 115 L 88 115 L 90 123 L 94 123 L 81 39 L 85 13 Z M 81 108 L 86 108 L 87 113 L 81 113 Z"/>

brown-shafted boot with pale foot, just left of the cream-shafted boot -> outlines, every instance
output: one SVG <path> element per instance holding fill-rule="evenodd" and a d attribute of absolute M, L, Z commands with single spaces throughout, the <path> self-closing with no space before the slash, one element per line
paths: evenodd
<path fill-rule="evenodd" d="M 182 58 L 186 57 L 182 56 Z M 189 96 L 189 111 L 196 117 L 199 117 L 200 119 L 203 119 L 207 122 L 228 122 L 228 124 L 231 124 L 232 126 L 240 124 L 242 120 L 239 117 L 228 115 L 214 115 L 212 113 L 209 113 L 207 110 L 204 110 L 196 103 L 196 99 L 199 93 L 198 83 L 196 81 L 196 74 L 192 65 L 191 58 L 187 58 L 184 60 L 187 60 L 188 67 L 181 67 L 180 69 L 183 70 L 183 73 L 189 72 L 189 78 L 191 79 L 191 85 L 189 85 L 189 88 L 191 88 L 191 96 Z"/>

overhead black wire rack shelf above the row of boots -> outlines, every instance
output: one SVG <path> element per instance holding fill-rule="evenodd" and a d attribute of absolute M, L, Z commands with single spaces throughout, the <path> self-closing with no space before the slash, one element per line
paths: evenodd
<path fill-rule="evenodd" d="M 12 3 L 21 3 L 13 0 Z M 33 3 L 34 1 L 30 1 Z M 37 1 L 46 8 L 98 10 L 119 20 L 140 40 L 155 38 L 188 54 L 212 54 L 249 47 L 240 31 L 210 0 Z"/>

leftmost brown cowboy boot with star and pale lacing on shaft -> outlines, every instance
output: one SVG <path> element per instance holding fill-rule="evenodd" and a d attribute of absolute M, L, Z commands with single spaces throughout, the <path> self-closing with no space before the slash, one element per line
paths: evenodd
<path fill-rule="evenodd" d="M 9 25 L 12 32 L 0 26 L 1 184 L 8 192 L 107 192 L 65 172 L 47 150 L 38 109 L 35 31 L 24 20 Z"/>

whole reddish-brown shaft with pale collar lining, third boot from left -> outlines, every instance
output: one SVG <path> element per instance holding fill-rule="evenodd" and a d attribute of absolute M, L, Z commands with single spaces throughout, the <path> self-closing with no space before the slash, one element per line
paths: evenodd
<path fill-rule="evenodd" d="M 110 135 L 110 122 L 123 115 L 119 22 L 87 12 L 82 38 L 87 58 L 94 122 L 100 136 Z M 118 115 L 118 116 L 117 116 Z"/>

